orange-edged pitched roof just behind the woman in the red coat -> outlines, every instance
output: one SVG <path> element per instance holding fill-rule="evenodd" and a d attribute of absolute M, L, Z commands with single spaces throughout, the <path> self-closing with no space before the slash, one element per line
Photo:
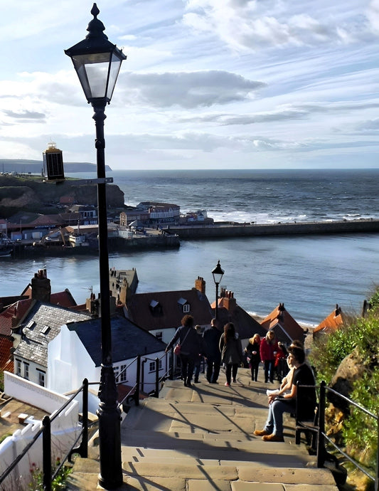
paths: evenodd
<path fill-rule="evenodd" d="M 279 303 L 260 324 L 266 332 L 273 329 L 278 341 L 290 343 L 294 339 L 299 339 L 304 342 L 304 329 L 285 310 L 284 303 Z"/>

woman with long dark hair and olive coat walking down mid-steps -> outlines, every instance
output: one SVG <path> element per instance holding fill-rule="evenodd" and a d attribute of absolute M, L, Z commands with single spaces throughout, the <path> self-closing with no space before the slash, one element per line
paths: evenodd
<path fill-rule="evenodd" d="M 231 376 L 233 374 L 233 382 L 236 382 L 238 366 L 242 363 L 242 344 L 235 332 L 233 322 L 228 322 L 224 326 L 224 332 L 220 337 L 220 352 L 221 361 L 225 363 L 225 386 L 230 386 L 232 383 Z"/>

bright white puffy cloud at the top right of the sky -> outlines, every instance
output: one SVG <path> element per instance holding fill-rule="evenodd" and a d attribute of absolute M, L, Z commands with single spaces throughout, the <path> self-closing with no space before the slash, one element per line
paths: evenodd
<path fill-rule="evenodd" d="M 378 0 L 372 4 L 371 23 L 379 26 Z M 193 31 L 212 32 L 236 51 L 346 44 L 370 36 L 358 0 L 319 0 L 316 9 L 310 0 L 189 0 L 183 24 Z"/>

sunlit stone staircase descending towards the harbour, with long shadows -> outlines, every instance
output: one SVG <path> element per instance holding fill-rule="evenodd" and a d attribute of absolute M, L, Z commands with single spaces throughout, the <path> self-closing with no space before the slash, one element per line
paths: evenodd
<path fill-rule="evenodd" d="M 284 419 L 284 443 L 252 435 L 267 417 L 267 384 L 240 369 L 237 383 L 187 388 L 166 381 L 159 399 L 132 406 L 122 422 L 121 490 L 336 491 L 330 470 L 317 469 L 304 443 L 294 443 L 294 420 Z M 68 490 L 95 490 L 96 438 L 88 459 L 78 458 Z"/>

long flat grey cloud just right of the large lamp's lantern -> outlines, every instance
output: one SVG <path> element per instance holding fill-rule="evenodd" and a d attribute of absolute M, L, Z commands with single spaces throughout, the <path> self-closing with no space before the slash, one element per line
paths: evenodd
<path fill-rule="evenodd" d="M 176 73 L 122 73 L 119 84 L 128 99 L 155 107 L 186 109 L 243 102 L 265 83 L 223 70 Z"/>

